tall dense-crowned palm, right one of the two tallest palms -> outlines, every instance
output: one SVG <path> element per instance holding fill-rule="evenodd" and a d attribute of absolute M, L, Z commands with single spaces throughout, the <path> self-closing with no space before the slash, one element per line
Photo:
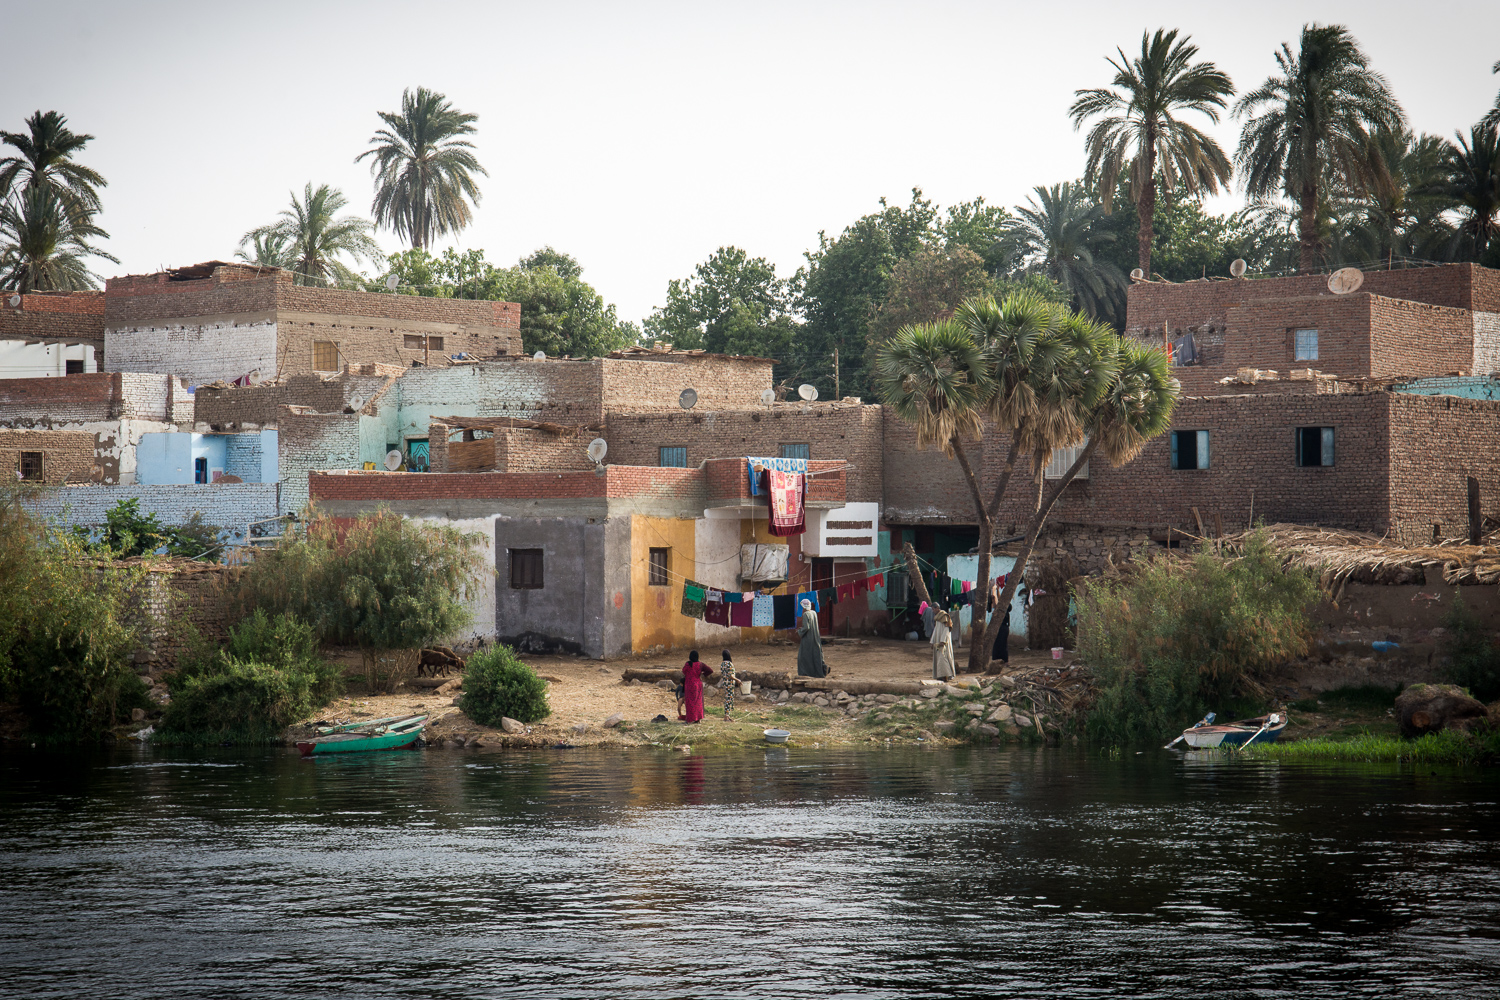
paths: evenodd
<path fill-rule="evenodd" d="M 1317 267 L 1323 189 L 1388 189 L 1390 175 L 1371 138 L 1404 129 L 1406 112 L 1341 25 L 1305 25 L 1298 52 L 1282 42 L 1276 66 L 1278 75 L 1234 105 L 1234 117 L 1248 118 L 1234 162 L 1251 198 L 1286 193 L 1296 202 L 1305 274 Z"/>

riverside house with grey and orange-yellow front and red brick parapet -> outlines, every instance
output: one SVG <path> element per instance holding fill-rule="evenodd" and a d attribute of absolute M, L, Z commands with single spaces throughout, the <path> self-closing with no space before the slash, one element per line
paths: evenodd
<path fill-rule="evenodd" d="M 807 535 L 771 535 L 764 502 L 750 496 L 742 456 L 690 469 L 314 472 L 310 490 L 336 517 L 386 507 L 477 532 L 495 567 L 476 603 L 480 631 L 525 649 L 606 657 L 766 640 L 770 628 L 726 628 L 681 613 L 688 580 L 753 589 L 741 576 L 746 547 L 788 546 L 790 579 L 768 589 L 776 594 L 874 571 L 874 505 L 846 504 L 842 462 L 814 460 L 810 471 L 814 522 L 837 516 L 862 528 L 819 532 L 814 523 Z M 828 577 L 819 580 L 824 561 Z M 861 594 L 825 609 L 825 627 L 867 628 L 885 616 L 882 597 Z"/>

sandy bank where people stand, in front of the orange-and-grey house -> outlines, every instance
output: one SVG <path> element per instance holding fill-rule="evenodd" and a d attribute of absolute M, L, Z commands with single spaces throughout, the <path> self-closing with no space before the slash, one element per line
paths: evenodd
<path fill-rule="evenodd" d="M 966 649 L 958 651 L 958 666 L 963 666 Z M 730 648 L 740 670 L 770 670 L 796 673 L 796 646 L 788 645 L 741 645 Z M 921 642 L 890 639 L 831 639 L 825 640 L 824 657 L 831 670 L 831 679 L 862 681 L 918 681 L 932 676 L 932 648 Z M 711 667 L 718 666 L 720 651 L 700 651 L 700 658 Z M 328 705 L 318 720 L 356 721 L 360 718 L 382 718 L 428 712 L 432 723 L 426 738 L 438 745 L 676 745 L 692 742 L 762 742 L 762 730 L 776 721 L 788 726 L 804 739 L 824 742 L 862 742 L 868 735 L 858 732 L 858 723 L 840 712 L 813 709 L 800 705 L 792 709 L 774 708 L 760 702 L 735 699 L 734 721 L 723 721 L 723 697 L 717 681 L 710 681 L 705 693 L 708 717 L 694 726 L 676 721 L 676 702 L 672 691 L 654 684 L 626 684 L 627 669 L 681 669 L 681 658 L 657 657 L 603 663 L 582 657 L 524 657 L 538 675 L 548 679 L 548 703 L 552 715 L 536 723 L 525 735 L 507 735 L 496 729 L 480 726 L 453 705 L 459 691 L 438 694 L 434 690 L 402 687 L 396 694 L 368 694 L 358 678 L 350 678 L 350 694 Z M 1046 651 L 1014 651 L 1011 669 L 1053 664 Z M 968 675 L 960 675 L 963 679 Z M 615 729 L 603 726 L 614 714 L 622 714 L 626 721 Z M 658 715 L 669 721 L 652 723 Z M 795 736 L 794 736 L 795 739 Z"/>

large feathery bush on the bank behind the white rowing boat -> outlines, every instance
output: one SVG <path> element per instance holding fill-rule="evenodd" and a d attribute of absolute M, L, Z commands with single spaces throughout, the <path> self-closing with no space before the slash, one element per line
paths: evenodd
<path fill-rule="evenodd" d="M 1238 556 L 1158 556 L 1125 580 L 1090 580 L 1077 595 L 1078 652 L 1100 688 L 1089 736 L 1161 739 L 1208 711 L 1258 711 L 1256 673 L 1306 654 L 1317 595 L 1260 534 Z"/>

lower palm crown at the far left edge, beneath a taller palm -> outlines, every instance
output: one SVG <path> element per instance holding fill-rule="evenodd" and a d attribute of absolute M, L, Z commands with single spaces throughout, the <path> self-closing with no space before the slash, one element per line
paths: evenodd
<path fill-rule="evenodd" d="M 82 258 L 120 261 L 88 240 L 104 229 L 78 219 L 57 190 L 36 184 L 0 205 L 0 288 L 16 291 L 76 291 L 98 288 L 98 276 Z"/>

